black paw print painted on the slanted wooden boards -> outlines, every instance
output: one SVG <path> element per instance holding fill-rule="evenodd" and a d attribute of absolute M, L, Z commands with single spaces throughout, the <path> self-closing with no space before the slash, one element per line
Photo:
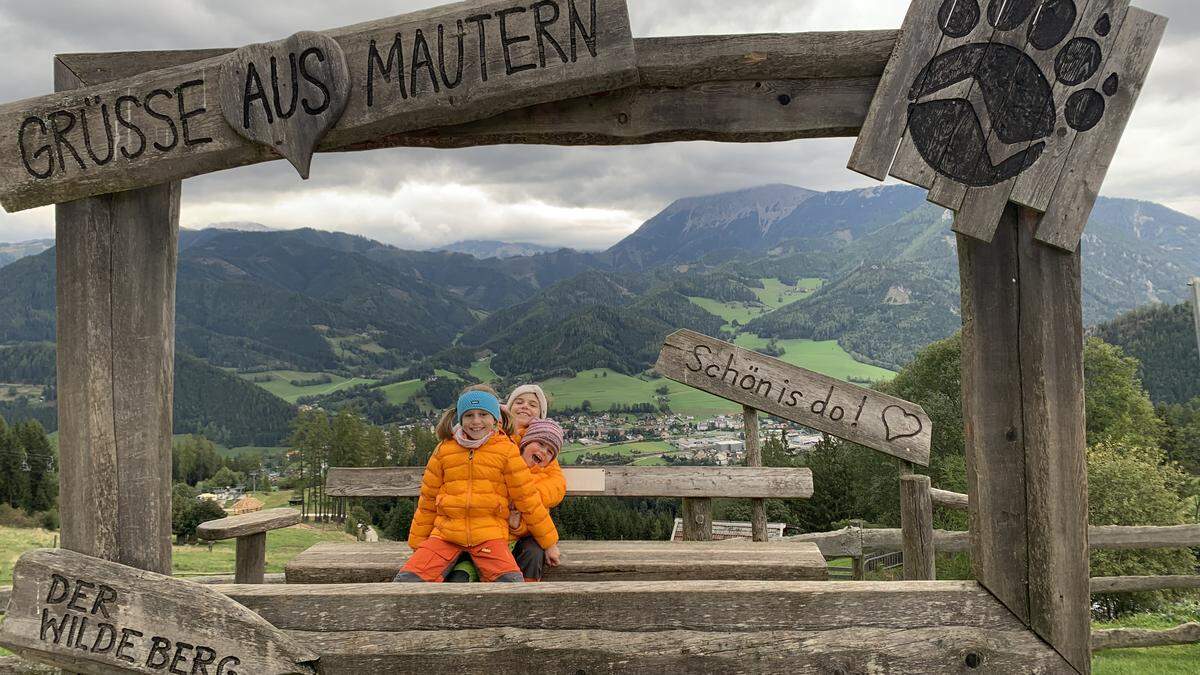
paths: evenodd
<path fill-rule="evenodd" d="M 953 38 L 970 35 L 984 14 L 979 5 L 979 0 L 944 0 L 937 13 L 942 32 Z M 1079 19 L 1074 0 L 990 0 L 986 18 L 998 31 L 1018 30 L 1028 23 L 1026 38 L 1038 50 L 1061 44 L 1054 78 L 1064 86 L 1087 82 L 1104 62 L 1100 43 L 1092 37 L 1067 41 Z M 1092 26 L 1100 37 L 1111 30 L 1108 14 Z M 1008 44 L 972 42 L 938 54 L 922 68 L 908 94 L 913 144 L 935 171 L 965 185 L 984 187 L 1020 174 L 1038 161 L 1045 139 L 1057 125 L 1058 107 L 1046 77 L 1033 59 Z M 971 79 L 972 100 L 922 101 Z M 1117 85 L 1114 73 L 1102 89 L 1112 96 Z M 1099 124 L 1104 108 L 1104 95 L 1091 88 L 1079 89 L 1067 98 L 1063 117 L 1072 129 L 1084 132 Z M 1021 149 L 994 162 L 988 149 L 990 135 L 1006 145 L 1020 144 Z"/>

